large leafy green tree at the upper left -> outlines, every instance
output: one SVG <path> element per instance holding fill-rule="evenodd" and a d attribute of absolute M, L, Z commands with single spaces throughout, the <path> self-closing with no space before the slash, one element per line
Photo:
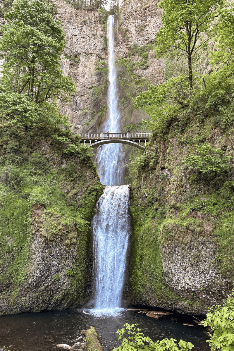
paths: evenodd
<path fill-rule="evenodd" d="M 20 123 L 22 119 L 25 125 L 35 125 L 43 114 L 48 118 L 57 99 L 68 102 L 76 91 L 71 78 L 60 69 L 65 36 L 53 11 L 48 2 L 15 0 L 4 16 L 0 107 L 2 117 L 8 120 Z M 52 114 L 58 117 L 55 110 Z"/>

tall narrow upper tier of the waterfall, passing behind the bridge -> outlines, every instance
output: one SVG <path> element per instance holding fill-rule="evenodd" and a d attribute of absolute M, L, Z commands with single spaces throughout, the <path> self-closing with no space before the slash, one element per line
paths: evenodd
<path fill-rule="evenodd" d="M 120 129 L 120 114 L 118 112 L 118 89 L 116 85 L 115 55 L 114 55 L 114 15 L 107 20 L 108 42 L 108 119 L 102 125 L 103 132 L 118 133 Z M 123 150 L 121 144 L 106 144 L 99 148 L 96 155 L 100 180 L 105 185 L 123 184 Z"/>

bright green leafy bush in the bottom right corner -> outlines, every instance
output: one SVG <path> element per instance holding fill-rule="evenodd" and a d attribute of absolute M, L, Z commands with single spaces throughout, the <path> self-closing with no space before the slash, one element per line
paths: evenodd
<path fill-rule="evenodd" d="M 223 302 L 222 306 L 212 307 L 203 321 L 213 330 L 207 342 L 214 351 L 234 350 L 234 292 Z"/>

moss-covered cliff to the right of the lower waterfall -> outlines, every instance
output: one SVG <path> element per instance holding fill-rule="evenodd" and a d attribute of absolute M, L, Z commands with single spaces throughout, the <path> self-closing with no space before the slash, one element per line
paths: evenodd
<path fill-rule="evenodd" d="M 233 98 L 219 102 L 229 113 L 222 127 L 205 92 L 162 122 L 132 162 L 131 302 L 204 314 L 232 290 Z"/>

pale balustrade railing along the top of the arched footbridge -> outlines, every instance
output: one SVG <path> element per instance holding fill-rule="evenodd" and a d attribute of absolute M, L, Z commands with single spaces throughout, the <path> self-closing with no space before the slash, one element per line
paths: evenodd
<path fill-rule="evenodd" d="M 152 133 L 82 133 L 82 139 L 149 139 Z"/>

